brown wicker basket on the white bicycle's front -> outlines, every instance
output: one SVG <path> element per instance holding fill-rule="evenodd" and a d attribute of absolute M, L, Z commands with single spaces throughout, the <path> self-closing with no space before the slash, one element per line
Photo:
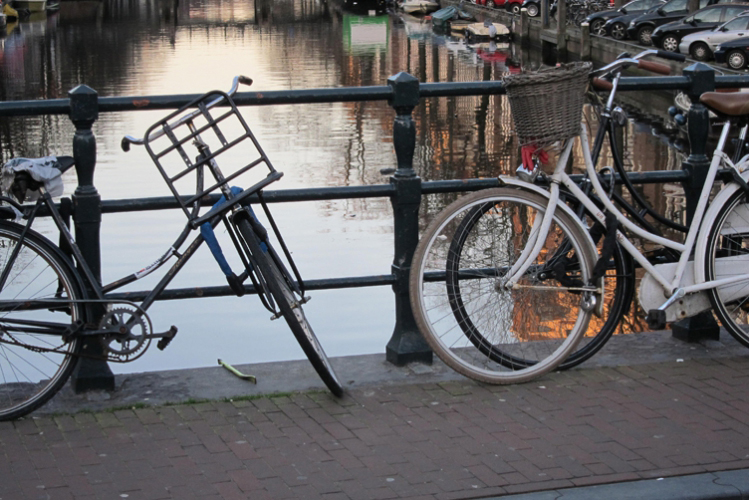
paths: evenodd
<path fill-rule="evenodd" d="M 521 146 L 543 148 L 580 132 L 591 68 L 575 62 L 504 78 Z"/>

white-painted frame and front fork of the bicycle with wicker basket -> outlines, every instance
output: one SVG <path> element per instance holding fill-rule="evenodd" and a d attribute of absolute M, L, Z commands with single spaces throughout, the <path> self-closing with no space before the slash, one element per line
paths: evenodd
<path fill-rule="evenodd" d="M 707 172 L 705 184 L 702 188 L 700 199 L 695 210 L 693 220 L 699 221 L 699 223 L 691 225 L 689 231 L 687 232 L 686 240 L 684 243 L 678 243 L 642 229 L 641 227 L 637 226 L 632 221 L 627 219 L 627 217 L 614 205 L 611 199 L 607 196 L 606 191 L 604 190 L 603 186 L 600 183 L 600 180 L 598 179 L 598 176 L 596 175 L 595 166 L 593 165 L 590 149 L 588 146 L 587 130 L 584 124 L 582 124 L 581 127 L 582 131 L 580 133 L 580 139 L 582 142 L 585 168 L 588 173 L 590 182 L 593 186 L 593 190 L 600 198 L 600 201 L 601 203 L 603 203 L 604 208 L 613 213 L 619 223 L 629 231 L 632 231 L 635 235 L 650 242 L 663 245 L 664 247 L 670 248 L 680 253 L 680 258 L 676 266 L 674 277 L 670 280 L 667 276 L 659 272 L 656 266 L 651 264 L 650 261 L 634 246 L 631 241 L 629 241 L 629 239 L 621 231 L 617 231 L 617 241 L 622 245 L 627 253 L 629 253 L 647 271 L 647 273 L 652 275 L 652 277 L 661 285 L 661 287 L 663 287 L 668 300 L 659 307 L 660 310 L 665 310 L 675 300 L 687 294 L 710 290 L 720 286 L 731 285 L 742 281 L 749 281 L 749 273 L 746 273 L 730 278 L 723 278 L 682 286 L 685 270 L 692 254 L 692 250 L 695 246 L 695 242 L 697 241 L 698 236 L 704 238 L 704 231 L 706 230 L 705 228 L 708 227 L 708 221 L 706 221 L 703 216 L 705 215 L 708 207 L 710 192 L 713 188 L 713 183 L 716 179 L 718 168 L 720 167 L 721 163 L 725 162 L 730 168 L 735 169 L 739 173 L 742 172 L 742 169 L 740 169 L 739 166 L 743 165 L 744 163 L 740 162 L 739 166 L 737 166 L 725 155 L 725 153 L 723 153 L 723 148 L 726 144 L 728 133 L 731 127 L 730 121 L 726 122 L 726 124 L 723 126 L 723 130 L 721 132 L 718 145 L 713 154 L 713 158 Z M 544 213 L 542 221 L 540 223 L 538 220 L 534 220 L 532 227 L 532 232 L 535 234 L 533 240 L 533 249 L 528 251 L 526 248 L 524 250 L 521 259 L 510 272 L 510 278 L 506 283 L 507 287 L 512 287 L 521 279 L 523 273 L 531 265 L 533 258 L 538 255 L 542 242 L 546 238 L 546 235 L 548 233 L 548 228 L 551 225 L 553 214 L 556 211 L 556 207 L 559 203 L 560 185 L 563 185 L 566 189 L 568 189 L 596 217 L 598 221 L 600 221 L 602 224 L 605 224 L 606 222 L 606 217 L 603 211 L 598 208 L 598 206 L 564 171 L 567 159 L 569 158 L 572 150 L 573 143 L 574 138 L 567 141 L 564 150 L 560 155 L 557 166 L 554 169 L 554 173 L 551 176 L 551 188 L 548 194 L 549 209 Z M 538 219 L 538 217 L 536 219 Z"/>

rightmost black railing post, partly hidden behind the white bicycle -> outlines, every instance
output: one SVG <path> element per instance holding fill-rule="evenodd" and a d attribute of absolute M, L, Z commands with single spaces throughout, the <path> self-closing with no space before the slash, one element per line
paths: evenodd
<path fill-rule="evenodd" d="M 706 64 L 696 63 L 684 69 L 684 76 L 688 76 L 691 80 L 687 93 L 692 101 L 687 115 L 689 157 L 681 166 L 689 174 L 688 180 L 682 183 L 687 203 L 687 225 L 689 226 L 694 222 L 692 220 L 694 212 L 699 202 L 702 186 L 705 184 L 707 170 L 710 167 L 710 159 L 707 156 L 710 117 L 707 108 L 700 102 L 700 96 L 705 92 L 715 90 L 715 71 Z M 687 342 L 696 342 L 700 339 L 717 340 L 720 337 L 720 328 L 711 311 L 702 312 L 691 318 L 673 323 L 671 332 L 677 339 Z"/>

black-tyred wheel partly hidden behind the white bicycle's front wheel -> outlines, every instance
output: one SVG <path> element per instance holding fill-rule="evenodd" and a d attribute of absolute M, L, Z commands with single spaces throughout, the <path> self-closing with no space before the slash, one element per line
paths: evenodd
<path fill-rule="evenodd" d="M 463 255 L 466 242 L 475 241 L 475 231 L 482 230 L 481 225 L 483 224 L 482 219 L 484 217 L 492 217 L 494 204 L 489 202 L 485 205 L 477 205 L 472 210 L 473 212 L 463 218 L 460 227 L 455 231 L 455 237 L 451 242 L 447 257 L 446 279 L 448 290 L 450 290 L 450 307 L 453 310 L 453 314 L 462 326 L 470 325 L 467 328 L 468 330 L 472 330 L 472 335 L 469 335 L 469 339 L 474 340 L 474 345 L 478 349 L 481 349 L 482 345 L 488 345 L 484 340 L 478 340 L 483 339 L 485 335 L 478 331 L 478 327 L 470 322 L 470 319 L 466 322 L 460 321 L 461 318 L 468 318 L 469 315 L 464 310 L 463 301 L 460 297 L 459 269 L 461 268 L 461 260 L 465 261 L 471 258 L 468 255 Z M 602 243 L 599 244 L 599 248 L 601 246 Z M 468 253 L 472 251 L 472 248 L 469 245 L 465 250 Z M 463 267 L 465 267 L 465 263 Z M 568 272 L 578 273 L 579 270 L 569 269 Z M 585 335 L 583 335 L 578 343 L 577 348 L 559 365 L 558 369 L 567 370 L 575 367 L 595 355 L 614 334 L 617 326 L 619 326 L 619 322 L 624 314 L 626 314 L 632 302 L 634 296 L 632 259 L 619 245 L 615 246 L 613 255 L 608 261 L 606 273 L 603 276 L 603 284 L 605 303 L 602 316 L 591 316 Z M 492 351 L 487 350 L 485 354 L 491 356 Z M 495 359 L 495 361 L 501 363 L 502 358 Z M 512 366 L 524 367 L 534 362 L 536 362 L 535 359 L 524 360 L 516 357 L 512 361 Z"/>

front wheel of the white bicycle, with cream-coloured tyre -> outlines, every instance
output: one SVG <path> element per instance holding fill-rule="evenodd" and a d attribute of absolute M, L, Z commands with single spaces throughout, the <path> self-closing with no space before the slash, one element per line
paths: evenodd
<path fill-rule="evenodd" d="M 512 289 L 503 286 L 547 203 L 519 189 L 478 191 L 445 208 L 421 238 L 410 275 L 414 316 L 434 352 L 459 373 L 488 383 L 528 381 L 556 368 L 585 333 L 591 294 L 580 289 L 590 279 L 595 248 L 561 209 L 524 278 Z M 466 218 L 475 220 L 464 224 Z M 469 226 L 467 235 L 457 234 Z M 461 241 L 460 256 L 454 241 Z M 569 250 L 558 255 L 560 245 Z"/>

